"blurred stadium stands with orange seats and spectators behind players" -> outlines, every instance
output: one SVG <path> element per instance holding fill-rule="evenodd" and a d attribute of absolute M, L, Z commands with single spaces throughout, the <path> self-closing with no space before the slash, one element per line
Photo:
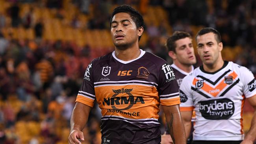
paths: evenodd
<path fill-rule="evenodd" d="M 121 4 L 143 14 L 143 50 L 171 63 L 165 41 L 173 31 L 194 39 L 200 28 L 213 27 L 221 33 L 224 59 L 256 76 L 256 0 L 0 0 L 0 144 L 67 143 L 85 69 L 114 49 L 109 19 Z M 96 107 L 84 144 L 100 143 Z M 245 132 L 252 113 L 246 102 Z"/>

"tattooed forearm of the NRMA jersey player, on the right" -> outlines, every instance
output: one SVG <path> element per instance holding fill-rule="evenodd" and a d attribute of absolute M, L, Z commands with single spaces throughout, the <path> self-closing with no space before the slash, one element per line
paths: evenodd
<path fill-rule="evenodd" d="M 186 144 L 185 129 L 179 112 L 170 114 L 167 126 L 174 144 Z"/>

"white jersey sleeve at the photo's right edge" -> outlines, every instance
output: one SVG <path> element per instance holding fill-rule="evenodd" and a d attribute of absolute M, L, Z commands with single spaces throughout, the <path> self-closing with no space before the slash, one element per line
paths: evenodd
<path fill-rule="evenodd" d="M 250 98 L 256 95 L 256 80 L 252 74 L 252 72 L 242 66 L 241 67 L 241 81 L 243 82 L 243 94 L 245 98 Z"/>

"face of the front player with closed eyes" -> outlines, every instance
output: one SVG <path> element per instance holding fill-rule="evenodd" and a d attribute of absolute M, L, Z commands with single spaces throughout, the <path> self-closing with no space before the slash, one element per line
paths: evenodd
<path fill-rule="evenodd" d="M 138 42 L 139 36 L 143 33 L 143 28 L 136 27 L 128 13 L 117 13 L 111 22 L 111 37 L 117 48 L 127 48 Z"/>

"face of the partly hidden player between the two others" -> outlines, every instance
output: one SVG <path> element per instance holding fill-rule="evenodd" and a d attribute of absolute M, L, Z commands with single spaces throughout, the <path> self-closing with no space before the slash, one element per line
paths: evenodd
<path fill-rule="evenodd" d="M 179 39 L 176 42 L 176 59 L 183 65 L 193 65 L 197 63 L 195 58 L 192 40 L 189 37 Z"/>

